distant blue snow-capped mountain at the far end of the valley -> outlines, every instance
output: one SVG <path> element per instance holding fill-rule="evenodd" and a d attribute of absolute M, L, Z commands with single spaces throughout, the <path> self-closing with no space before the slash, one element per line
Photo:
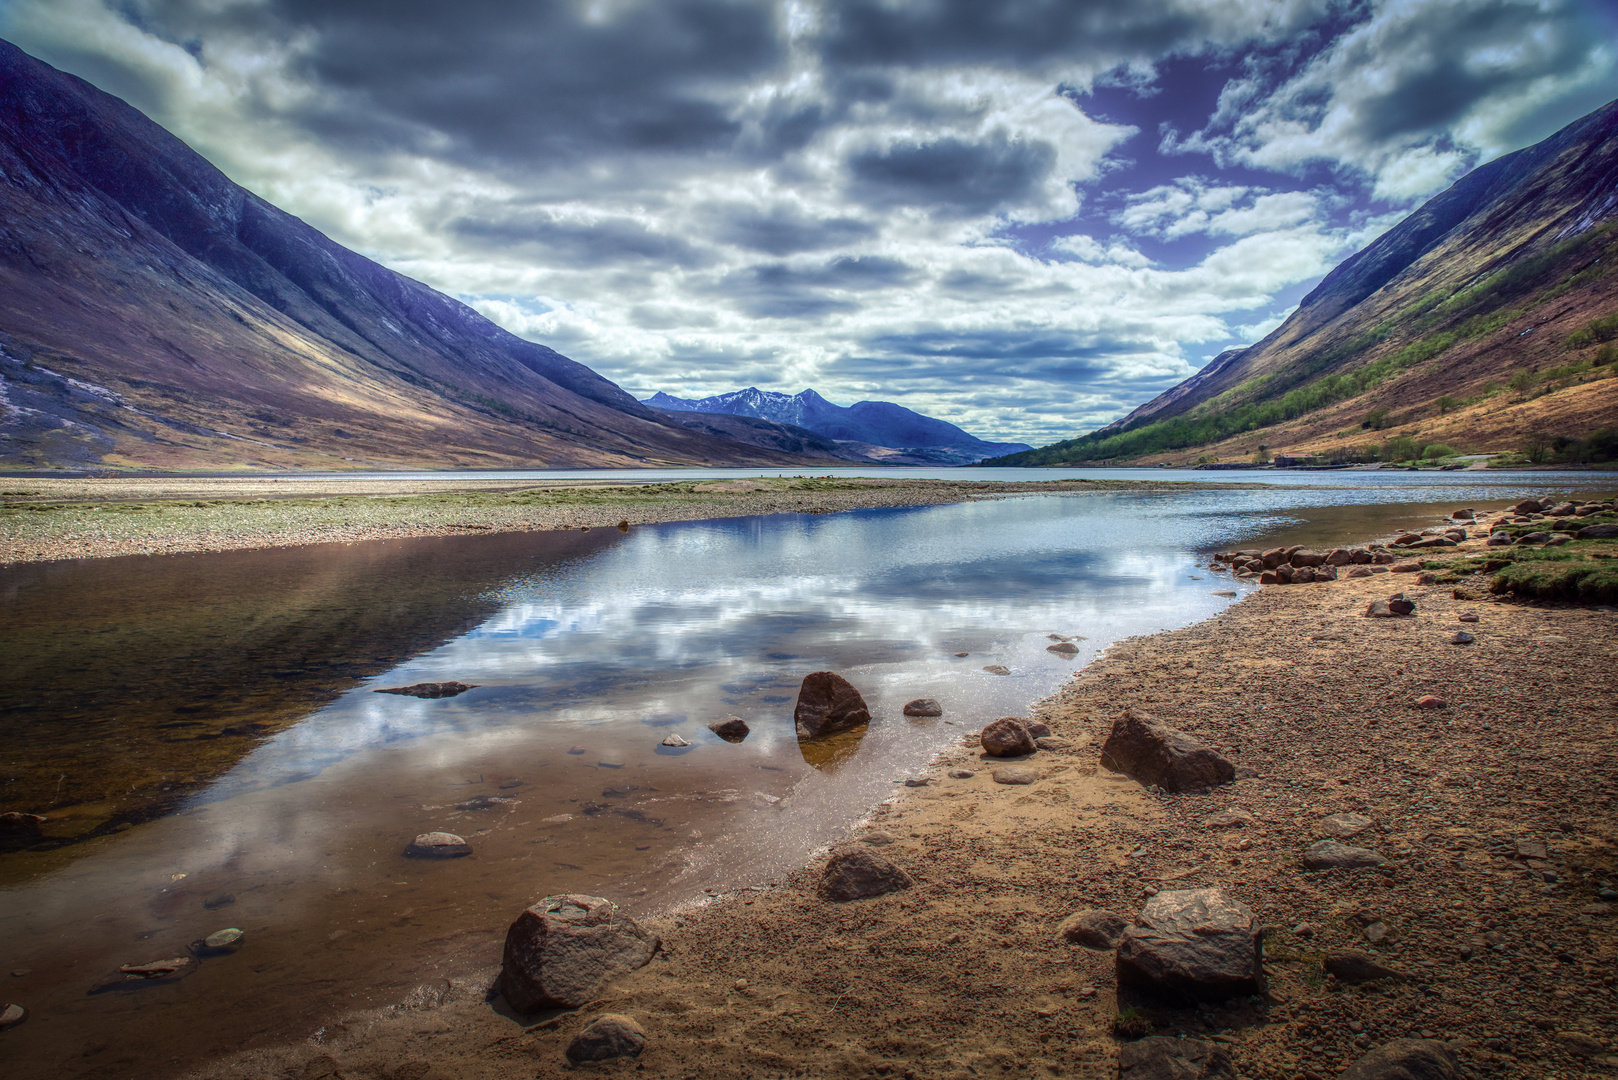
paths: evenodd
<path fill-rule="evenodd" d="M 849 406 L 832 405 L 814 390 L 803 393 L 777 393 L 773 390 L 731 390 L 701 400 L 654 393 L 646 405 L 668 413 L 718 413 L 726 416 L 754 416 L 778 424 L 791 424 L 841 444 L 885 447 L 913 455 L 932 457 L 951 463 L 977 461 L 997 453 L 1029 450 L 1024 442 L 984 442 L 955 424 L 932 416 L 922 416 L 892 402 L 856 402 Z M 870 450 L 858 453 L 870 455 Z M 882 457 L 877 453 L 875 457 Z M 887 455 L 892 460 L 892 455 Z"/>

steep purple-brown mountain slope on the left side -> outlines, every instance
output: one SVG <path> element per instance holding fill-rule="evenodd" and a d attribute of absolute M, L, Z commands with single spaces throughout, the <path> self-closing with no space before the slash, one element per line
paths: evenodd
<path fill-rule="evenodd" d="M 0 42 L 0 465 L 804 461 L 670 423 Z"/>

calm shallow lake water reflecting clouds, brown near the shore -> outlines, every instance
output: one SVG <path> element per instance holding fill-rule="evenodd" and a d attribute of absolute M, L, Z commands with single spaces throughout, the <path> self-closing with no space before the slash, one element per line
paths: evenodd
<path fill-rule="evenodd" d="M 1214 549 L 1618 486 L 1262 479 L 1283 483 L 0 570 L 0 810 L 50 816 L 0 853 L 0 965 L 23 972 L 0 997 L 32 1012 L 0 1035 L 0 1069 L 147 1075 L 309 1036 L 466 955 L 493 962 L 506 923 L 553 892 L 649 912 L 765 884 L 1112 641 L 1233 602 L 1204 568 Z M 798 683 L 820 669 L 875 719 L 799 745 Z M 442 680 L 477 688 L 372 693 Z M 945 716 L 904 719 L 916 696 Z M 728 714 L 746 742 L 707 730 Z M 691 746 L 660 746 L 671 732 Z M 432 829 L 474 855 L 404 858 Z M 87 993 L 228 926 L 244 947 L 184 981 Z"/>

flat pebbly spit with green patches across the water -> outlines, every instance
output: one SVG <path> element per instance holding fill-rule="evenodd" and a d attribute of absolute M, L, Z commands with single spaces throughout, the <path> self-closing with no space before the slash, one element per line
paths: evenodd
<path fill-rule="evenodd" d="M 751 478 L 623 481 L 340 481 L 159 478 L 0 481 L 0 567 L 63 559 L 629 528 L 772 513 L 840 513 L 971 499 L 1249 489 L 1260 483 Z"/>

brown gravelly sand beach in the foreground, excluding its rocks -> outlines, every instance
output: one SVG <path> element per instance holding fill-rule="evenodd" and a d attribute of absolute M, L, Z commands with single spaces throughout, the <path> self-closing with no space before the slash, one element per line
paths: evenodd
<path fill-rule="evenodd" d="M 1472 539 L 1442 559 L 1479 551 Z M 1393 1038 L 1446 1040 L 1489 1077 L 1607 1075 L 1618 904 L 1595 894 L 1618 884 L 1618 615 L 1490 596 L 1476 573 L 1416 578 L 1264 588 L 1201 623 L 1116 643 L 1032 708 L 1066 746 L 1031 758 L 1031 785 L 995 784 L 968 727 L 927 787 L 901 789 L 838 845 L 872 844 L 911 889 L 830 904 L 806 866 L 642 920 L 663 938 L 650 965 L 526 1025 L 485 996 L 503 926 L 469 929 L 477 944 L 440 952 L 406 1007 L 194 1075 L 571 1075 L 571 1036 L 618 1012 L 647 1048 L 616 1067 L 655 1077 L 1100 1078 L 1118 1074 L 1113 1023 L 1134 1007 L 1155 1035 L 1218 1043 L 1251 1080 L 1330 1077 Z M 1414 617 L 1364 617 L 1400 589 Z M 1479 615 L 1477 641 L 1455 646 L 1463 610 Z M 1450 706 L 1416 709 L 1425 693 Z M 1160 795 L 1099 769 L 1123 706 L 1220 748 L 1239 779 Z M 976 776 L 948 776 L 963 766 Z M 1209 824 L 1225 811 L 1247 819 Z M 1374 818 L 1353 842 L 1388 866 L 1304 870 L 1330 813 Z M 1527 848 L 1531 863 L 1519 844 L 1542 850 Z M 1058 938 L 1076 910 L 1129 920 L 1147 891 L 1204 886 L 1269 928 L 1264 999 L 1120 999 L 1112 954 Z M 1372 941 L 1379 925 L 1387 934 Z M 1320 955 L 1340 949 L 1404 978 L 1320 978 Z"/>

